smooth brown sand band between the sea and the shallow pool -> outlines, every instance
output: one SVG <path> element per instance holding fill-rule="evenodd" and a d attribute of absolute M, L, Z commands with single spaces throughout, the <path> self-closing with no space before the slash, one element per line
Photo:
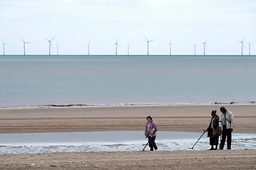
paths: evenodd
<path fill-rule="evenodd" d="M 159 130 L 202 132 L 222 105 L 1 109 L 0 133 L 143 130 L 151 115 Z M 256 133 L 256 105 L 227 105 L 236 133 Z"/>

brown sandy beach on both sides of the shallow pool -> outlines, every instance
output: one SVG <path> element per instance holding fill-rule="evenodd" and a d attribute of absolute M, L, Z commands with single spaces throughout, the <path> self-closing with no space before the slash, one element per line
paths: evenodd
<path fill-rule="evenodd" d="M 202 132 L 222 105 L 1 109 L 0 133 L 144 130 Z M 235 133 L 256 133 L 256 105 L 225 105 Z M 1 154 L 0 169 L 255 169 L 256 150 Z M 213 158 L 213 159 L 212 159 Z M 223 163 L 225 162 L 225 163 Z"/>

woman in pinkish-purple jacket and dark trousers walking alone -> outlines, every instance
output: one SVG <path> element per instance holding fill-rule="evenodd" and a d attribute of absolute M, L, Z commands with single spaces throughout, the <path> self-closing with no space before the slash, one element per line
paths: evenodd
<path fill-rule="evenodd" d="M 145 136 L 148 138 L 148 145 L 150 147 L 150 151 L 157 150 L 157 146 L 155 143 L 156 140 L 156 131 L 157 131 L 156 122 L 152 119 L 151 116 L 147 116 L 147 123 L 145 128 Z"/>

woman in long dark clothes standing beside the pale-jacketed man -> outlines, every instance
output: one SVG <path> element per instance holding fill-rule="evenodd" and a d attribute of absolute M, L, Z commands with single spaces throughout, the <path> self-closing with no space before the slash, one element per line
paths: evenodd
<path fill-rule="evenodd" d="M 219 135 L 220 135 L 220 128 L 219 128 L 219 116 L 216 114 L 217 111 L 211 112 L 211 121 L 209 127 L 206 132 L 208 132 L 207 137 L 210 137 L 210 145 L 211 148 L 209 150 L 218 150 L 219 144 Z M 215 145 L 215 148 L 213 146 Z"/>

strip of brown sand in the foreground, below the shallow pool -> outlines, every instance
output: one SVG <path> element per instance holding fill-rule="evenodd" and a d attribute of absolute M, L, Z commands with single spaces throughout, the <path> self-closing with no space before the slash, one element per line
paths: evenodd
<path fill-rule="evenodd" d="M 12 154 L 0 169 L 256 169 L 256 150 Z"/>

